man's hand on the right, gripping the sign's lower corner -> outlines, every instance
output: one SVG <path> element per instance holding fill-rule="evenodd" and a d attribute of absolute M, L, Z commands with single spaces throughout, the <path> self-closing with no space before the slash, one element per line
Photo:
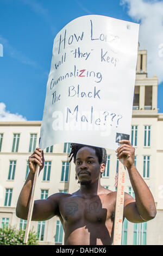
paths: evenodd
<path fill-rule="evenodd" d="M 122 139 L 122 141 L 119 141 L 118 143 L 122 144 L 119 148 L 117 148 L 117 158 L 123 159 L 126 158 L 126 167 L 127 169 L 130 169 L 131 166 L 133 166 L 135 161 L 135 148 L 131 145 L 129 141 L 126 139 Z"/>

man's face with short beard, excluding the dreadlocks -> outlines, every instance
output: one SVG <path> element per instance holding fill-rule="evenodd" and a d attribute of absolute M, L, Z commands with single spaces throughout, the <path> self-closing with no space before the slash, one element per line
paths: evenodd
<path fill-rule="evenodd" d="M 101 164 L 98 162 L 96 151 L 89 147 L 78 150 L 76 156 L 76 175 L 80 185 L 88 185 L 99 179 Z"/>

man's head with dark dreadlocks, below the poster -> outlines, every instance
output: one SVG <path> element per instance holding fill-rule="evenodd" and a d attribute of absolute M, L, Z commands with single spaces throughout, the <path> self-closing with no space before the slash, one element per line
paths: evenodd
<path fill-rule="evenodd" d="M 107 154 L 104 148 L 71 143 L 71 157 L 76 164 L 76 179 L 80 184 L 89 184 L 92 179 L 99 179 L 105 170 Z"/>

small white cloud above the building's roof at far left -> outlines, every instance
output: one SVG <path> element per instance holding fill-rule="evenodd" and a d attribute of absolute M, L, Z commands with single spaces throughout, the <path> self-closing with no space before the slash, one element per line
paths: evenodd
<path fill-rule="evenodd" d="M 0 121 L 27 121 L 27 119 L 22 115 L 18 113 L 12 114 L 5 108 L 5 104 L 3 102 L 0 102 Z"/>

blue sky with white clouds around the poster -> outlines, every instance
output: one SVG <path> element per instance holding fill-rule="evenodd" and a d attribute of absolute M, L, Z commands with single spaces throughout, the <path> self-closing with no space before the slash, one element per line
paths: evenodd
<path fill-rule="evenodd" d="M 163 0 L 0 0 L 0 121 L 42 120 L 53 40 L 68 22 L 105 15 L 140 24 L 163 113 Z"/>

